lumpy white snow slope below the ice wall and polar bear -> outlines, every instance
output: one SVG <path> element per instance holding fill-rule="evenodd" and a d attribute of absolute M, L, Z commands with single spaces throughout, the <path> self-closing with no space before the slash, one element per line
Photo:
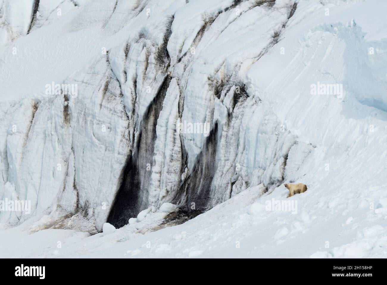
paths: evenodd
<path fill-rule="evenodd" d="M 60 229 L 30 233 L 30 219 L 0 231 L 0 250 L 2 257 L 387 257 L 387 211 L 370 210 L 373 198 L 350 188 L 336 196 L 318 191 L 318 197 L 308 190 L 290 199 L 282 187 L 260 196 L 262 190 L 249 188 L 182 225 L 157 231 L 146 229 L 156 228 L 159 212 L 92 236 Z M 281 211 L 277 201 L 293 204 Z"/>

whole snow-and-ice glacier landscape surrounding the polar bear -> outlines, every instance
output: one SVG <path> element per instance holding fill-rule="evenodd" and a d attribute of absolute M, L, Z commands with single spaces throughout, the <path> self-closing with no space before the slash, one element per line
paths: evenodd
<path fill-rule="evenodd" d="M 18 2 L 0 257 L 387 257 L 384 0 Z"/>

